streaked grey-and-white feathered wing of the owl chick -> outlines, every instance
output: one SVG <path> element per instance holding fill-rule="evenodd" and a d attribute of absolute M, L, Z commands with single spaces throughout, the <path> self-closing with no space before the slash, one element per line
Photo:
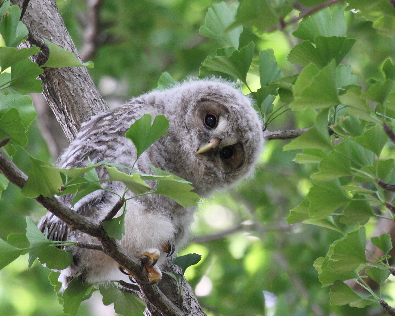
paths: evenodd
<path fill-rule="evenodd" d="M 62 168 L 85 167 L 88 157 L 93 164 L 99 161 L 110 161 L 113 163 L 123 163 L 119 161 L 119 146 L 127 143 L 124 137 L 126 131 L 138 117 L 138 107 L 131 107 L 132 103 L 124 107 L 117 108 L 111 112 L 105 112 L 93 116 L 85 123 L 78 133 L 77 138 L 70 144 L 69 148 L 59 157 L 58 165 Z M 125 150 L 121 150 L 125 152 Z M 131 155 L 130 159 L 133 159 Z M 100 179 L 105 177 L 105 168 L 96 168 Z M 105 182 L 102 187 L 112 189 L 113 183 Z M 58 197 L 58 200 L 71 207 L 71 202 L 75 194 L 65 194 Z M 79 202 L 73 210 L 77 213 L 95 217 L 98 212 L 109 210 L 112 194 L 104 190 L 94 191 Z M 58 217 L 48 212 L 38 225 L 38 228 L 46 234 L 47 238 L 54 241 L 66 241 L 70 234 L 70 227 Z M 46 232 L 47 230 L 47 232 Z"/>

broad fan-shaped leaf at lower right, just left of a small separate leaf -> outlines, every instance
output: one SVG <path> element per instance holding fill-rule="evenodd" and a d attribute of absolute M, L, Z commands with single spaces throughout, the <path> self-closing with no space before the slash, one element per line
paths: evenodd
<path fill-rule="evenodd" d="M 355 232 L 348 233 L 333 247 L 329 267 L 339 273 L 348 273 L 361 269 L 367 260 L 365 257 L 366 231 L 361 226 Z"/>

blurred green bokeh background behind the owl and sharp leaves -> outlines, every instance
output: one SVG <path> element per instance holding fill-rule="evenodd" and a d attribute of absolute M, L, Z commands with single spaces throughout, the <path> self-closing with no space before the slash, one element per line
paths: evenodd
<path fill-rule="evenodd" d="M 88 5 L 92 1 L 60 0 L 58 6 L 81 55 L 94 62 L 95 67 L 89 71 L 100 93 L 110 107 L 116 107 L 130 97 L 156 88 L 164 71 L 175 80 L 198 76 L 201 62 L 222 47 L 198 32 L 207 8 L 218 2 L 99 1 L 96 20 L 100 23 L 96 25 L 99 31 L 93 50 L 87 46 L 92 41 L 88 32 L 94 19 Z M 395 56 L 395 45 L 392 38 L 372 28 L 372 22 L 349 11 L 346 17 L 348 37 L 357 39 L 346 64 L 352 65 L 363 85 L 371 77 L 380 77 L 379 65 L 386 56 Z M 295 28 L 290 26 L 285 32 L 264 35 L 244 28 L 240 47 L 254 41 L 256 52 L 271 48 L 285 76 L 299 73 L 300 69 L 287 61 L 287 54 L 297 43 L 292 36 Z M 252 90 L 259 87 L 258 77 L 249 75 L 247 79 Z M 45 124 L 52 119 L 45 116 L 48 113 L 45 114 L 40 96 L 33 98 L 39 116 L 45 118 L 39 117 L 29 129 L 26 150 L 38 159 L 54 163 L 54 156 L 67 143 L 61 140 L 60 127 Z M 313 118 L 308 110 L 288 111 L 268 129 L 306 127 Z M 267 142 L 253 177 L 200 202 L 191 228 L 191 243 L 179 254 L 196 252 L 203 258 L 198 265 L 188 268 L 186 279 L 207 314 L 213 316 L 380 315 L 380 308 L 374 304 L 365 309 L 330 307 L 329 290 L 321 288 L 313 263 L 317 257 L 325 256 L 329 245 L 341 236 L 317 226 L 286 224 L 289 210 L 308 192 L 312 167 L 294 163 L 296 152 L 282 151 L 285 144 L 283 140 Z M 22 150 L 15 155 L 14 162 L 28 172 L 29 160 Z M 10 184 L 0 199 L 0 237 L 6 239 L 10 232 L 24 232 L 26 216 L 38 222 L 45 213 L 39 204 L 24 198 Z M 374 221 L 367 227 L 373 230 Z M 47 280 L 49 270 L 38 262 L 30 271 L 27 267 L 25 255 L 0 271 L 0 315 L 63 315 Z M 384 290 L 391 293 L 395 288 L 389 283 Z M 82 303 L 77 315 L 113 316 L 115 312 L 111 306 L 102 305 L 96 292 Z"/>

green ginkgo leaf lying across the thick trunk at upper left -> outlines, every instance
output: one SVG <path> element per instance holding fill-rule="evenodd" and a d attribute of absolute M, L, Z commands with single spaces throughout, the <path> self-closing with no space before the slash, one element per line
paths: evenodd
<path fill-rule="evenodd" d="M 44 39 L 49 49 L 49 57 L 41 67 L 60 68 L 60 67 L 88 67 L 93 68 L 93 62 L 80 62 L 72 52 L 51 43 Z"/>

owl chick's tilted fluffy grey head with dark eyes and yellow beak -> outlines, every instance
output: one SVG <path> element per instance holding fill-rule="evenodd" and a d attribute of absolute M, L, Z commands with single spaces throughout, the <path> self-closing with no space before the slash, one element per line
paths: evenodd
<path fill-rule="evenodd" d="M 192 182 L 199 195 L 252 172 L 263 145 L 262 124 L 233 84 L 189 80 L 160 92 L 160 107 L 170 125 L 156 146 L 160 167 Z"/>

